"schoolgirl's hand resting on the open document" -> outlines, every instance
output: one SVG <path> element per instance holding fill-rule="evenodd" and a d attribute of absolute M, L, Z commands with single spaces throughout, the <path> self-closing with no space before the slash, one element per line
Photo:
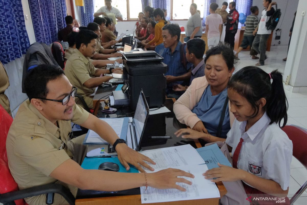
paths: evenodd
<path fill-rule="evenodd" d="M 205 179 L 211 179 L 212 182 L 232 182 L 242 180 L 246 171 L 242 169 L 235 169 L 226 165 L 218 163 L 219 168 L 213 168 L 207 170 L 203 175 Z M 217 178 L 217 179 L 212 179 Z"/>

